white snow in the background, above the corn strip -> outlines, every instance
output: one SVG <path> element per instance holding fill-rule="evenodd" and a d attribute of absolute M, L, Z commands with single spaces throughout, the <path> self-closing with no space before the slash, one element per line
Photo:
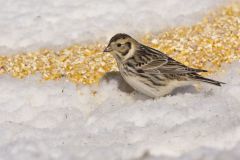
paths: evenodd
<path fill-rule="evenodd" d="M 0 0 L 0 54 L 160 31 L 226 0 Z"/>

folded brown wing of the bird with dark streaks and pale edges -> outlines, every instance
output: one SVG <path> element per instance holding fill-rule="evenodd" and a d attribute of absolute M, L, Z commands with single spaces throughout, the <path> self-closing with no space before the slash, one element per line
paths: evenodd
<path fill-rule="evenodd" d="M 174 59 L 168 57 L 166 54 L 149 48 L 147 46 L 141 46 L 138 51 L 141 55 L 138 56 L 148 56 L 148 59 L 144 61 L 142 58 L 142 63 L 137 65 L 137 69 L 141 69 L 144 72 L 151 74 L 187 74 L 187 73 L 197 73 L 197 72 L 207 72 L 206 70 L 194 69 L 185 66 L 184 64 L 175 61 Z"/>

